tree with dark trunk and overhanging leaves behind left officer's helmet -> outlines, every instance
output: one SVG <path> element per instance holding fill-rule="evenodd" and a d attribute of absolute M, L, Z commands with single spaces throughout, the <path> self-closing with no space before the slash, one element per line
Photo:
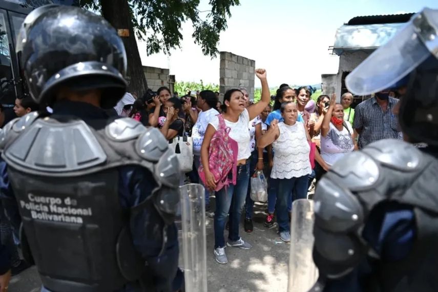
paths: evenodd
<path fill-rule="evenodd" d="M 123 37 L 128 56 L 130 91 L 141 95 L 148 88 L 135 35 L 147 41 L 147 53 L 170 54 L 180 48 L 181 24 L 191 21 L 193 38 L 204 55 L 216 56 L 219 34 L 227 27 L 230 8 L 239 0 L 209 0 L 210 10 L 199 11 L 200 0 L 80 0 L 82 8 L 100 11 L 116 29 L 129 30 Z"/>

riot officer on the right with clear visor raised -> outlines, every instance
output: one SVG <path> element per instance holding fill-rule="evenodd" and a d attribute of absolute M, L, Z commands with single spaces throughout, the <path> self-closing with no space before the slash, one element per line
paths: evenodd
<path fill-rule="evenodd" d="M 346 155 L 315 194 L 312 291 L 438 291 L 438 10 L 424 9 L 348 75 L 358 95 L 401 86 L 409 142 Z"/>

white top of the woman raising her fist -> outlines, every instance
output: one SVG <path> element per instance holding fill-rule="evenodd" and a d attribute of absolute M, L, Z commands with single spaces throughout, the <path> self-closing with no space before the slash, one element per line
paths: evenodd
<path fill-rule="evenodd" d="M 245 109 L 240 115 L 237 122 L 231 122 L 225 119 L 226 127 L 230 127 L 230 137 L 238 144 L 239 150 L 237 152 L 237 160 L 248 159 L 251 156 L 251 149 L 249 148 L 249 114 Z M 217 130 L 219 128 L 218 117 L 213 117 L 210 124 Z"/>

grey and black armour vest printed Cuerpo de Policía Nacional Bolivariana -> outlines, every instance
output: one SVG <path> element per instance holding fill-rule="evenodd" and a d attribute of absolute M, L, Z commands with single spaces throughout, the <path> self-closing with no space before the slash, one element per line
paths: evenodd
<path fill-rule="evenodd" d="M 157 129 L 131 118 L 92 127 L 33 112 L 5 127 L 0 148 L 23 219 L 24 254 L 47 289 L 107 292 L 139 279 L 147 263 L 134 249 L 131 216 L 145 210 L 171 224 L 179 201 L 178 160 Z M 131 210 L 119 201 L 123 165 L 147 169 L 156 182 Z"/>

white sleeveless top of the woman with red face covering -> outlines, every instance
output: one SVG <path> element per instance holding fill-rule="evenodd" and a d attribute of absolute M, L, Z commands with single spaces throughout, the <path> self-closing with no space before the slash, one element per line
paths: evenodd
<path fill-rule="evenodd" d="M 351 124 L 344 120 L 345 126 L 342 131 L 336 129 L 336 127 L 330 122 L 330 130 L 324 137 L 321 135 L 321 157 L 328 165 L 335 164 L 338 159 L 344 156 L 346 153 L 354 150 L 353 129 Z"/>

